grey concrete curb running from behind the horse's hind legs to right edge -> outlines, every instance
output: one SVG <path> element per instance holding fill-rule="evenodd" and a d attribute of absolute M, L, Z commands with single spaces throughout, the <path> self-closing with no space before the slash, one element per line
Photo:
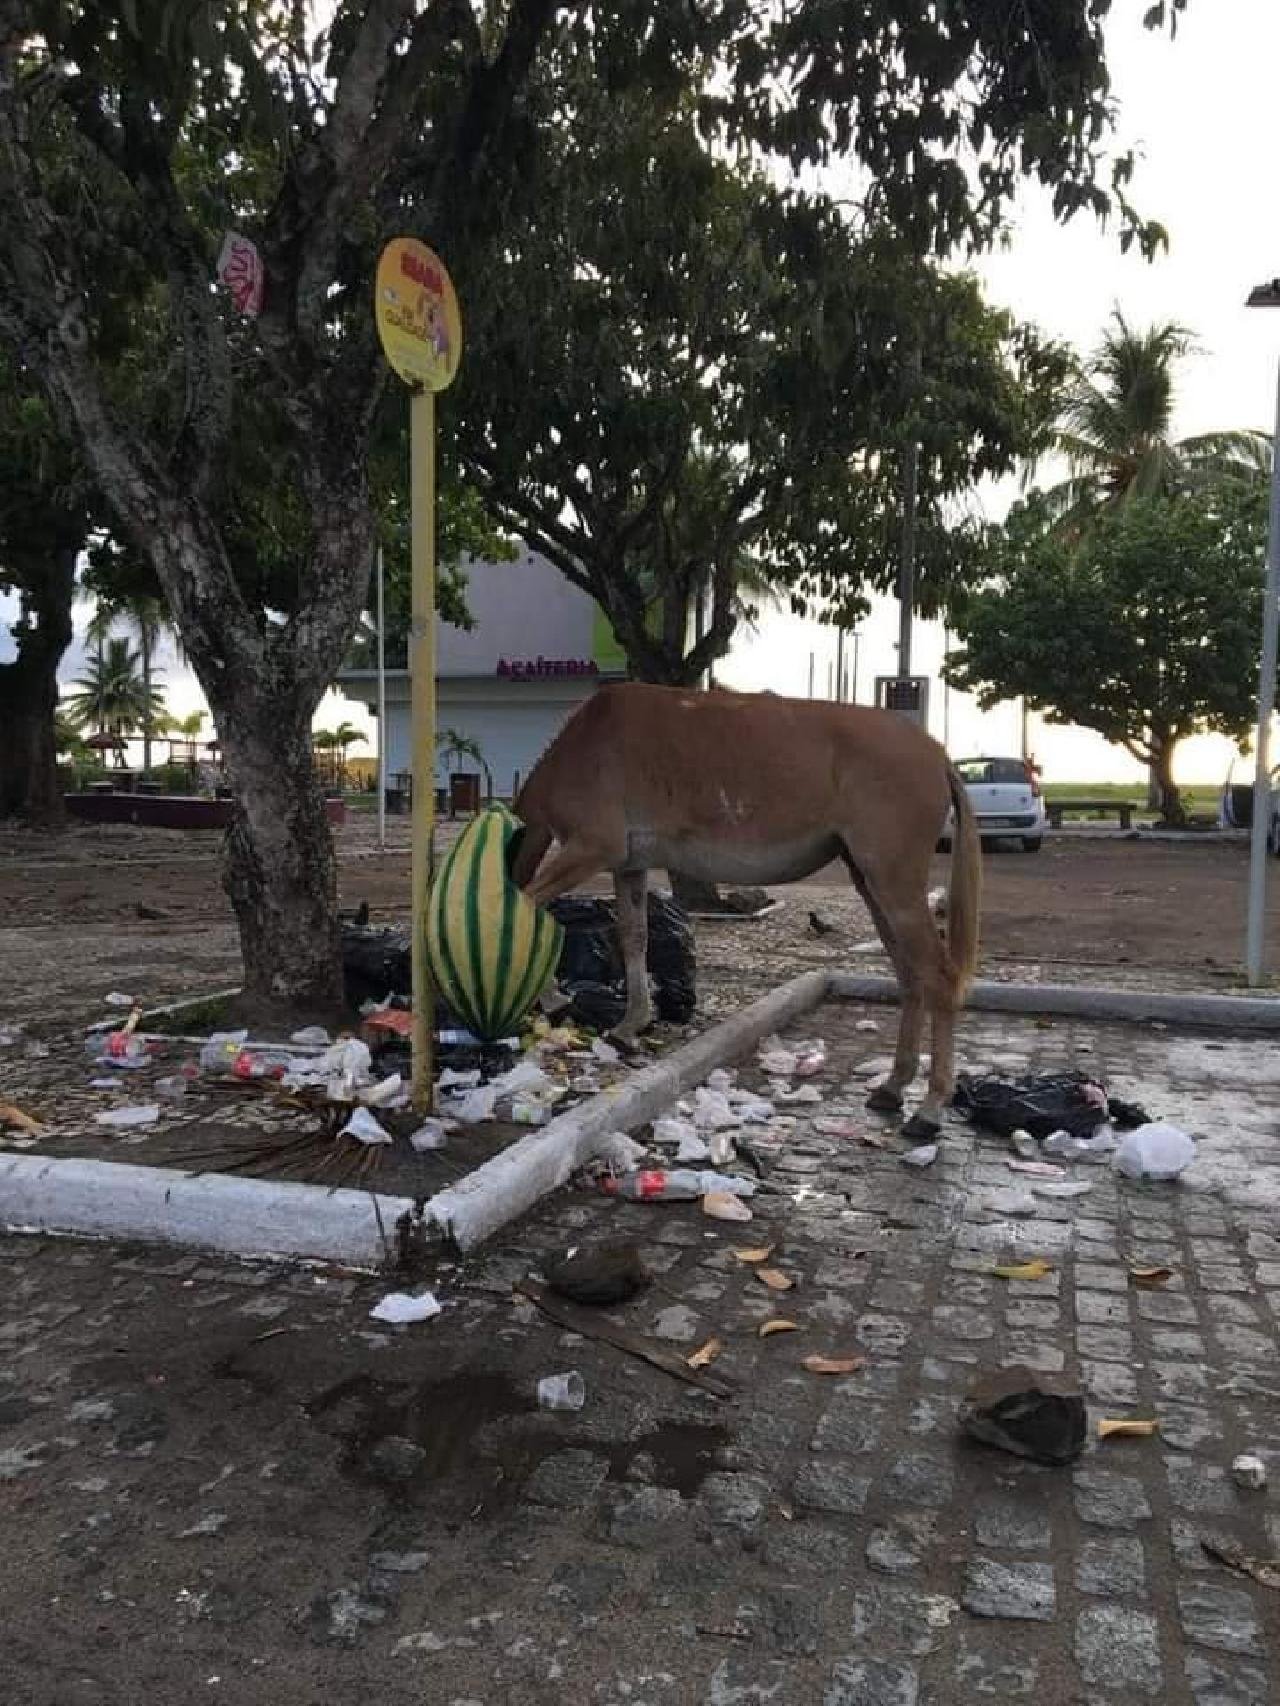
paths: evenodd
<path fill-rule="evenodd" d="M 898 1001 L 891 978 L 828 976 L 841 1001 Z M 1155 989 L 1082 989 L 1067 983 L 975 983 L 966 1007 L 978 1013 L 1055 1013 L 1121 1024 L 1191 1025 L 1207 1030 L 1280 1030 L 1280 1000 L 1242 995 L 1162 995 Z"/>

